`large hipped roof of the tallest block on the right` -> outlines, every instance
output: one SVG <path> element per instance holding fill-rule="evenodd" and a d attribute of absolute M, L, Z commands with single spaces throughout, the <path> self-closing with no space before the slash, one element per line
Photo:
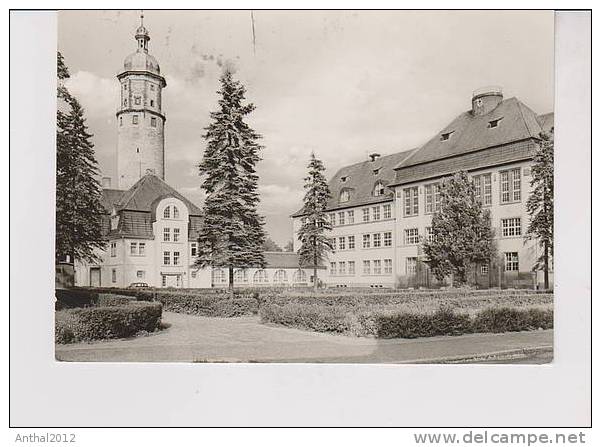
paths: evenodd
<path fill-rule="evenodd" d="M 498 119 L 498 126 L 489 128 L 489 122 Z M 484 115 L 462 113 L 396 169 L 537 138 L 541 130 L 537 115 L 517 98 L 509 98 Z M 442 140 L 441 135 L 449 132 L 452 132 L 450 137 Z"/>

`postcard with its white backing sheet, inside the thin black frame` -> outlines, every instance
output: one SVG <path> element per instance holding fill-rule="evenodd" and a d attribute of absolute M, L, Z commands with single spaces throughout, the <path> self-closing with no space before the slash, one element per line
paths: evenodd
<path fill-rule="evenodd" d="M 590 17 L 13 10 L 15 424 L 588 424 Z"/>

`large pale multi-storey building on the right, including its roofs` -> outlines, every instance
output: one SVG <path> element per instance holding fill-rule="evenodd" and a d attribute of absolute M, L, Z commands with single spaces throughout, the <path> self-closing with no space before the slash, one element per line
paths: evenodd
<path fill-rule="evenodd" d="M 490 210 L 498 253 L 492 262 L 475 266 L 471 280 L 482 287 L 540 286 L 542 272 L 532 268 L 541 249 L 525 237 L 526 202 L 540 133 L 552 130 L 552 113 L 537 115 L 516 98 L 504 100 L 499 88 L 489 88 L 474 92 L 471 109 L 423 146 L 385 157 L 372 154 L 369 161 L 339 170 L 329 183 L 336 250 L 328 257 L 325 283 L 447 285 L 448 278 L 438 281 L 429 271 L 422 243 L 431 237 L 440 182 L 463 170 Z M 295 235 L 302 219 L 302 210 L 293 215 Z"/>

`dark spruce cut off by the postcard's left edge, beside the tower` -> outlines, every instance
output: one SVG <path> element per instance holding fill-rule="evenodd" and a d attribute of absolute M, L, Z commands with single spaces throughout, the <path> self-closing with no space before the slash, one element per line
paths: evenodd
<path fill-rule="evenodd" d="M 98 259 L 96 249 L 105 247 L 98 164 L 84 111 L 64 86 L 69 71 L 60 53 L 57 74 L 55 259 L 92 262 Z"/>

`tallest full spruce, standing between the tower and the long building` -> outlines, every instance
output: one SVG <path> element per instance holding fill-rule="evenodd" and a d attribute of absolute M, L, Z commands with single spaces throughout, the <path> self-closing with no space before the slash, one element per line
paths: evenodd
<path fill-rule="evenodd" d="M 224 70 L 218 93 L 219 108 L 203 136 L 207 146 L 199 165 L 206 192 L 196 265 L 229 271 L 233 292 L 234 269 L 264 267 L 264 221 L 259 204 L 256 165 L 261 136 L 244 122 L 255 106 L 244 104 L 246 89 Z"/>

